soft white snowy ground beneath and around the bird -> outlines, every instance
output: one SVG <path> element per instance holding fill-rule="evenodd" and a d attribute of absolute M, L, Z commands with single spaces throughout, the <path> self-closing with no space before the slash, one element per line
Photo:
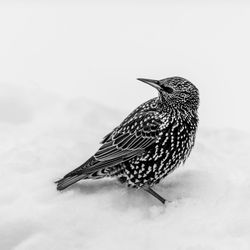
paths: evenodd
<path fill-rule="evenodd" d="M 57 192 L 126 114 L 38 88 L 1 86 L 0 249 L 250 249 L 250 136 L 199 129 L 184 167 L 156 189 L 113 180 Z"/>

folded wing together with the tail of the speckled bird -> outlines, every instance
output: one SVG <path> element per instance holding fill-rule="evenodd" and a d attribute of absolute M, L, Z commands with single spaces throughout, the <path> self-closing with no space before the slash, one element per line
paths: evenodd
<path fill-rule="evenodd" d="M 98 176 L 103 169 L 142 154 L 157 140 L 161 124 L 159 113 L 155 111 L 140 112 L 128 117 L 104 137 L 103 145 L 94 156 L 57 181 L 57 189 L 63 190 L 91 175 Z"/>

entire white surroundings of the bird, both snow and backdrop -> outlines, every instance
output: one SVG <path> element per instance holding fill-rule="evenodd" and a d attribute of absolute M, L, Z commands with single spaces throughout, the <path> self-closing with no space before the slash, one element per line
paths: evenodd
<path fill-rule="evenodd" d="M 1 250 L 249 250 L 247 1 L 0 1 Z M 155 187 L 54 181 L 137 105 L 200 90 L 196 145 Z"/>

